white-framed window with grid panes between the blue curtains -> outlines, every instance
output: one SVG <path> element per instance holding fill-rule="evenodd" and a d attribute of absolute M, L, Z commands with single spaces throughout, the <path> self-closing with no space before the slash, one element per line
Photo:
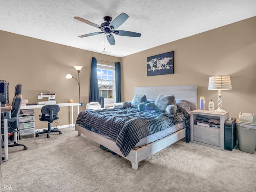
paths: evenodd
<path fill-rule="evenodd" d="M 104 99 L 114 98 L 114 72 L 114 66 L 97 64 L 100 96 L 104 96 Z"/>

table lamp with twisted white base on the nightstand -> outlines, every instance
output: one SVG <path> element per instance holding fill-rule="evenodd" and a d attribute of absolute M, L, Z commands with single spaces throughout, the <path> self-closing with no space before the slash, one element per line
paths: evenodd
<path fill-rule="evenodd" d="M 208 90 L 218 90 L 218 109 L 214 110 L 215 112 L 226 112 L 223 110 L 221 104 L 221 97 L 220 94 L 221 90 L 229 90 L 232 89 L 230 76 L 212 76 L 209 77 L 209 85 Z"/>

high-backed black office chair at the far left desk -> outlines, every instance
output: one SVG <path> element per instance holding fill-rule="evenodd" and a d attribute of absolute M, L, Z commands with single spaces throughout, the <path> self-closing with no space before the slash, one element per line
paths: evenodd
<path fill-rule="evenodd" d="M 8 142 L 8 147 L 14 147 L 14 146 L 23 146 L 23 150 L 27 150 L 28 148 L 23 144 L 18 144 L 16 142 L 17 140 L 17 133 L 20 129 L 20 121 L 19 121 L 19 114 L 20 114 L 20 106 L 22 101 L 22 85 L 18 84 L 15 87 L 15 95 L 12 100 L 12 110 L 11 110 L 11 118 L 8 118 L 8 135 L 13 136 L 14 135 L 14 141 Z M 4 126 L 3 126 L 3 120 L 2 120 L 2 126 L 1 126 L 1 132 L 4 133 Z M 13 144 L 12 144 L 13 143 Z M 2 148 L 4 146 L 2 145 Z"/>

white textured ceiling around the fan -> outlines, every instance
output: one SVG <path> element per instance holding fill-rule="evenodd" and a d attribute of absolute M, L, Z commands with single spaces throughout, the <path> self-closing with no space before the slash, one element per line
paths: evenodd
<path fill-rule="evenodd" d="M 0 0 L 0 30 L 122 57 L 256 16 L 256 0 Z M 129 18 L 118 30 L 140 38 L 104 34 L 74 19 L 100 25 L 104 16 Z M 109 53 L 102 52 L 106 48 Z"/>

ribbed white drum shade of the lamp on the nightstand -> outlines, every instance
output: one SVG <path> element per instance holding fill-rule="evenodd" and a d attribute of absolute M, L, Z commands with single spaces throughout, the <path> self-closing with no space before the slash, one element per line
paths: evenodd
<path fill-rule="evenodd" d="M 229 90 L 232 89 L 230 76 L 209 77 L 208 90 Z"/>

